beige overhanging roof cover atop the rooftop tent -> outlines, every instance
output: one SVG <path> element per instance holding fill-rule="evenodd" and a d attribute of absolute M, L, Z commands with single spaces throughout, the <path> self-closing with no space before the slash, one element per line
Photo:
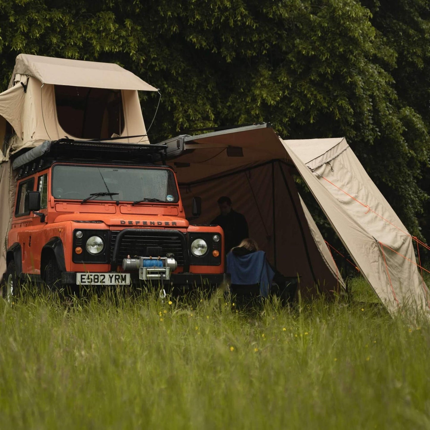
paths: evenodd
<path fill-rule="evenodd" d="M 13 85 L 16 74 L 32 76 L 41 83 L 54 85 L 157 91 L 157 88 L 118 64 L 96 61 L 20 54 L 16 57 L 9 88 Z"/>

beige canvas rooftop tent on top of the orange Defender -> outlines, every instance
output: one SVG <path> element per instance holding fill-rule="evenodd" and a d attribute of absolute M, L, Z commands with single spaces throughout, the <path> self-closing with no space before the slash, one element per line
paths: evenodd
<path fill-rule="evenodd" d="M 59 139 L 149 144 L 139 90 L 157 91 L 117 64 L 16 57 L 9 88 L 0 93 L 0 281 L 17 175 L 9 158 Z"/>

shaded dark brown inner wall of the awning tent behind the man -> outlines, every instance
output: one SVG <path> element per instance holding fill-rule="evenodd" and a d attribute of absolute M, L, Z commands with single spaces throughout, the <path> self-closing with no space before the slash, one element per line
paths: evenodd
<path fill-rule="evenodd" d="M 193 166 L 182 170 L 187 170 L 189 177 Z M 181 177 L 179 172 L 180 182 Z M 313 237 L 292 175 L 283 163 L 273 161 L 181 186 L 186 210 L 190 210 L 193 197 L 203 199 L 202 216 L 195 223 L 209 223 L 219 214 L 217 200 L 222 195 L 228 195 L 233 208 L 246 216 L 250 237 L 258 242 L 270 262 L 285 276 L 301 276 L 302 295 L 331 295 L 344 286 L 342 279 L 336 278 L 336 270 L 330 268 L 334 262 L 323 257 L 329 251 L 324 250 L 326 244 L 316 225 L 314 234 L 321 240 L 318 243 Z"/>

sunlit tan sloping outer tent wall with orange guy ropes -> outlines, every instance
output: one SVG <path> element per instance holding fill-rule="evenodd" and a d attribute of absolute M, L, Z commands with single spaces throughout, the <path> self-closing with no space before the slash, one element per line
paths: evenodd
<path fill-rule="evenodd" d="M 318 149 L 318 140 L 282 142 L 387 309 L 395 313 L 402 305 L 412 304 L 428 311 L 429 291 L 419 276 L 412 237 L 405 226 L 344 139 L 333 141 L 325 152 Z"/>

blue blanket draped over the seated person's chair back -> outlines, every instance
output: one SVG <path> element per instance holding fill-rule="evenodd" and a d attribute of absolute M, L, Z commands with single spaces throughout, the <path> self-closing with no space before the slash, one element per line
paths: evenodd
<path fill-rule="evenodd" d="M 267 297 L 275 273 L 266 260 L 264 251 L 252 252 L 248 255 L 227 254 L 227 272 L 231 283 L 237 285 L 260 284 L 260 294 Z"/>

